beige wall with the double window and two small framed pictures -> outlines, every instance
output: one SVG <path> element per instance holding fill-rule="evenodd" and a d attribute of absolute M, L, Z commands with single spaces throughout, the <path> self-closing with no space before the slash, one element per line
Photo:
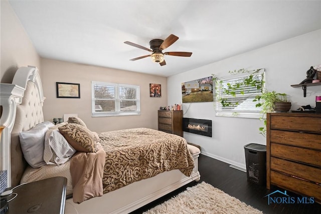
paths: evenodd
<path fill-rule="evenodd" d="M 44 119 L 77 113 L 96 132 L 145 127 L 157 129 L 157 110 L 167 104 L 167 78 L 137 72 L 41 58 Z M 92 117 L 91 81 L 140 86 L 140 115 Z M 79 83 L 80 99 L 57 98 L 56 82 Z M 162 97 L 149 97 L 149 83 L 162 85 Z"/>

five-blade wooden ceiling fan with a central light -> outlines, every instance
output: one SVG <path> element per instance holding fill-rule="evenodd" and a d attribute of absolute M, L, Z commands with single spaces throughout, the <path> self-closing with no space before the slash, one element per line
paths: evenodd
<path fill-rule="evenodd" d="M 145 56 L 141 56 L 141 57 L 137 57 L 137 58 L 133 58 L 131 59 L 131 61 L 135 61 L 135 60 L 140 60 L 146 57 L 151 57 L 151 60 L 155 63 L 159 63 L 159 65 L 164 66 L 166 65 L 165 62 L 165 58 L 164 55 L 171 55 L 171 56 L 178 56 L 178 57 L 190 57 L 192 55 L 191 52 L 165 52 L 163 53 L 163 50 L 170 47 L 171 45 L 173 45 L 173 43 L 175 43 L 179 38 L 173 34 L 171 34 L 168 38 L 166 38 L 165 40 L 161 40 L 161 39 L 154 39 L 154 40 L 150 40 L 149 42 L 149 46 L 150 49 L 145 48 L 143 46 L 137 45 L 135 43 L 132 42 L 124 42 L 127 45 L 131 45 L 134 46 L 136 48 L 140 48 L 146 51 L 151 52 L 152 54 L 149 55 L 145 55 Z"/>

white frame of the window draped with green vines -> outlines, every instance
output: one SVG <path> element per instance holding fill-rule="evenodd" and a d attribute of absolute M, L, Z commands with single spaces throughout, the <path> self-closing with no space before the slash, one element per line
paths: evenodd
<path fill-rule="evenodd" d="M 257 95 L 261 95 L 262 94 L 262 90 L 264 90 L 265 88 L 265 69 L 258 69 L 258 70 L 253 70 L 253 71 L 246 71 L 246 70 L 239 70 L 242 71 L 241 74 L 237 74 L 238 72 L 234 71 L 234 72 L 229 72 L 232 74 L 236 74 L 234 76 L 230 76 L 228 78 L 224 78 L 223 80 L 220 80 L 218 78 L 216 78 L 215 81 L 215 93 L 214 93 L 214 105 L 215 105 L 215 112 L 216 112 L 216 116 L 222 116 L 222 117 L 241 117 L 241 118 L 258 118 L 261 119 L 262 118 L 262 107 L 255 107 L 255 105 L 258 102 L 254 102 L 253 101 L 253 107 L 255 107 L 255 110 L 226 110 L 224 109 L 224 107 L 222 108 L 222 104 L 221 104 L 221 91 L 223 90 L 222 88 L 222 84 L 223 82 L 229 82 L 230 84 L 232 84 L 233 82 L 236 82 L 237 80 L 242 80 L 245 79 L 247 77 L 249 77 L 251 74 L 258 72 L 259 75 L 261 75 L 261 80 L 263 81 L 262 84 L 262 88 L 261 88 L 261 92 L 255 92 L 255 93 L 251 93 L 245 95 L 247 96 L 247 99 L 252 99 L 250 97 L 253 97 L 253 99 L 255 99 L 255 96 Z M 258 89 L 256 89 L 258 90 Z M 238 94 L 238 96 L 233 96 L 233 95 L 224 95 L 224 98 L 235 98 L 235 97 L 244 97 L 244 95 L 240 95 Z M 246 100 L 246 99 L 245 99 Z"/>

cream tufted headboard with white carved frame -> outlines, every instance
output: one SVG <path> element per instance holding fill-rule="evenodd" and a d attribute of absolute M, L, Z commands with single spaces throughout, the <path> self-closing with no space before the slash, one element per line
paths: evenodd
<path fill-rule="evenodd" d="M 43 90 L 36 67 L 21 67 L 12 84 L 1 84 L 3 113 L 0 124 L 5 125 L 1 142 L 1 170 L 8 170 L 8 186 L 20 183 L 27 166 L 21 150 L 19 133 L 44 121 Z"/>

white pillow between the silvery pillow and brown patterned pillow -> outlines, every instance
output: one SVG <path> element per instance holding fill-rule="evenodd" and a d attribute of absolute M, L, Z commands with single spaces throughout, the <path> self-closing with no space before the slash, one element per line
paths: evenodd
<path fill-rule="evenodd" d="M 44 161 L 47 164 L 63 164 L 76 152 L 58 129 L 49 129 L 45 136 Z"/>

